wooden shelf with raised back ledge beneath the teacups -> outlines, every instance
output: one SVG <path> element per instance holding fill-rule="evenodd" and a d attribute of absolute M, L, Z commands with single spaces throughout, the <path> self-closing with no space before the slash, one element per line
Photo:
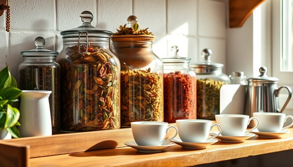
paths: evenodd
<path fill-rule="evenodd" d="M 219 141 L 200 150 L 174 145 L 153 154 L 124 145 L 134 140 L 131 128 L 0 140 L 0 166 L 194 166 L 293 149 L 289 130 L 278 139 L 256 135 L 242 143 Z M 173 133 L 170 129 L 167 137 Z"/>

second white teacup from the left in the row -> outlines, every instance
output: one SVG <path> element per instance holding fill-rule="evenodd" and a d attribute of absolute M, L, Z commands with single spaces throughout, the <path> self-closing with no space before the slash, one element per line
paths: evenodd
<path fill-rule="evenodd" d="M 180 119 L 176 120 L 178 134 L 182 142 L 205 142 L 217 137 L 222 132 L 222 127 L 212 121 L 203 119 Z M 214 126 L 219 127 L 219 133 L 209 137 L 209 132 Z"/>

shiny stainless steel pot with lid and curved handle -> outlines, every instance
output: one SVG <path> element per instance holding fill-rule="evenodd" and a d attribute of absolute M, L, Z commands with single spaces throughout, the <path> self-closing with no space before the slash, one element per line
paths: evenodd
<path fill-rule="evenodd" d="M 283 112 L 292 96 L 292 89 L 289 86 L 280 86 L 276 77 L 268 77 L 267 67 L 259 69 L 260 76 L 249 78 L 245 98 L 244 114 L 253 116 L 254 112 Z M 278 96 L 280 90 L 286 88 L 289 92 L 288 98 L 282 109 L 279 107 Z"/>

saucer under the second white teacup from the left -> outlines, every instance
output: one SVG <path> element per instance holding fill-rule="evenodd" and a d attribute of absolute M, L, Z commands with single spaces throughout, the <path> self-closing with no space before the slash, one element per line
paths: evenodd
<path fill-rule="evenodd" d="M 206 146 L 212 145 L 217 141 L 218 141 L 217 139 L 209 139 L 205 142 L 192 143 L 192 142 L 182 142 L 180 138 L 174 138 L 170 140 L 170 142 L 174 142 L 182 146 L 182 148 L 188 148 L 188 149 L 204 149 Z"/>

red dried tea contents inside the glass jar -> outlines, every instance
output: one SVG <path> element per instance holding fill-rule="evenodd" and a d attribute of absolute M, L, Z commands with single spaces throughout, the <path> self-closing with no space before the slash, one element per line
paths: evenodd
<path fill-rule="evenodd" d="M 164 121 L 196 119 L 196 77 L 181 72 L 164 74 Z"/>

